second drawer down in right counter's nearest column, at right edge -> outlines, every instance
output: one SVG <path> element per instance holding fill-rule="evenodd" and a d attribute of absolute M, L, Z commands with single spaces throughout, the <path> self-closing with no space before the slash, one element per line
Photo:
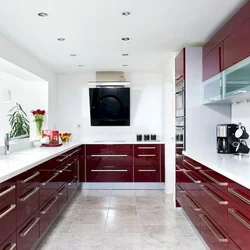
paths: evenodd
<path fill-rule="evenodd" d="M 228 205 L 228 234 L 241 249 L 249 249 L 249 211 L 232 200 Z"/>

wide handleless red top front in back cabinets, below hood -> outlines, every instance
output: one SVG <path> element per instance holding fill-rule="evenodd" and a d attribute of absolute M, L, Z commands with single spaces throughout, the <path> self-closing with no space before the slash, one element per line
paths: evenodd
<path fill-rule="evenodd" d="M 87 155 L 133 155 L 132 145 L 86 145 Z"/>

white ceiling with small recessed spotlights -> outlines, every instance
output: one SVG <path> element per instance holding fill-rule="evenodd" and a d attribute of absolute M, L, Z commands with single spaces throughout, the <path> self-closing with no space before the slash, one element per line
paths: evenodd
<path fill-rule="evenodd" d="M 202 45 L 245 2 L 0 0 L 0 32 L 57 72 L 159 71 L 170 52 Z M 131 15 L 122 16 L 123 11 Z M 131 40 L 123 42 L 124 36 Z"/>

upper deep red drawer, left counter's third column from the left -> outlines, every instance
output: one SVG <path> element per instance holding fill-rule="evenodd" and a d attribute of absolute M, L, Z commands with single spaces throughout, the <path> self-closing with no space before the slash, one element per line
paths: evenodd
<path fill-rule="evenodd" d="M 40 181 L 40 196 L 39 206 L 42 206 L 58 189 L 58 175 L 57 172 L 52 172 L 46 175 Z"/>

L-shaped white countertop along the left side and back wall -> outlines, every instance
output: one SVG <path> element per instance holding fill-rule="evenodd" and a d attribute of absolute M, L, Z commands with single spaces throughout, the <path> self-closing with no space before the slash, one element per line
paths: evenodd
<path fill-rule="evenodd" d="M 0 183 L 24 171 L 27 171 L 39 164 L 48 161 L 66 151 L 86 144 L 164 144 L 162 141 L 79 141 L 62 145 L 61 147 L 38 147 L 29 148 L 22 151 L 11 153 L 10 155 L 0 156 Z M 10 146 L 11 147 L 11 146 Z"/>

